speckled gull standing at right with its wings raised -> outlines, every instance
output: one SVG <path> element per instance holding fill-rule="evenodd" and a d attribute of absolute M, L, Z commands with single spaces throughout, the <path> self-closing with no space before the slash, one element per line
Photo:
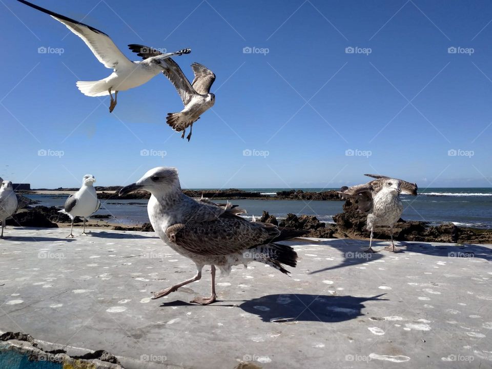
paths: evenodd
<path fill-rule="evenodd" d="M 403 206 L 400 193 L 417 195 L 417 185 L 401 179 L 390 178 L 375 174 L 366 174 L 376 178 L 365 185 L 342 188 L 339 193 L 342 198 L 356 198 L 359 211 L 367 214 L 367 230 L 371 231 L 369 248 L 365 252 L 374 252 L 372 249 L 373 232 L 376 226 L 387 226 L 391 229 L 391 251 L 395 251 L 393 242 L 393 226 L 400 219 Z"/>

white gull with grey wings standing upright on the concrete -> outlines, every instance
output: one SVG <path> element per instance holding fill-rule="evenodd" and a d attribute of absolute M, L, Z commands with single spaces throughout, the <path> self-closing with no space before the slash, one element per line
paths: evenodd
<path fill-rule="evenodd" d="M 70 228 L 70 234 L 67 237 L 74 237 L 73 235 L 73 220 L 76 216 L 84 218 L 84 226 L 82 234 L 86 233 L 86 217 L 95 213 L 101 206 L 101 201 L 97 198 L 96 189 L 93 183 L 96 181 L 92 174 L 86 174 L 82 179 L 82 187 L 80 190 L 70 195 L 65 201 L 65 206 L 60 213 L 67 214 L 72 219 L 72 226 Z"/>

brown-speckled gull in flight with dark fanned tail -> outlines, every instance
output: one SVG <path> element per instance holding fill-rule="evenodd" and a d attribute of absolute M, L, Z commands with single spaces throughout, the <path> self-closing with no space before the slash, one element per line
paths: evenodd
<path fill-rule="evenodd" d="M 138 53 L 146 60 L 150 57 L 157 57 L 161 53 L 148 46 L 143 45 L 128 45 L 130 50 Z M 193 123 L 200 119 L 200 115 L 212 108 L 215 104 L 215 95 L 210 93 L 210 87 L 215 80 L 215 74 L 205 66 L 198 63 L 193 63 L 191 68 L 195 74 L 193 83 L 185 76 L 185 73 L 179 68 L 176 62 L 167 58 L 162 61 L 162 72 L 169 78 L 173 86 L 176 88 L 185 109 L 179 113 L 168 113 L 166 121 L 173 130 L 177 132 L 183 131 L 181 138 L 185 138 L 186 129 L 190 127 L 190 133 L 186 138 L 190 141 Z"/>

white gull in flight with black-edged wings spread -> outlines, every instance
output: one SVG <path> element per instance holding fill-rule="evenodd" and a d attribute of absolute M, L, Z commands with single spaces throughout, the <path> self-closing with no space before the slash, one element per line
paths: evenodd
<path fill-rule="evenodd" d="M 110 112 L 116 106 L 118 91 L 129 90 L 147 83 L 151 78 L 166 68 L 166 65 L 163 63 L 166 58 L 174 55 L 189 54 L 191 52 L 191 49 L 183 49 L 172 53 L 159 54 L 143 61 L 131 61 L 121 53 L 113 43 L 113 40 L 103 31 L 99 31 L 94 27 L 77 22 L 77 20 L 54 13 L 25 0 L 17 1 L 49 14 L 58 20 L 58 22 L 63 23 L 70 31 L 86 43 L 97 60 L 103 63 L 106 68 L 113 69 L 113 73 L 106 78 L 96 81 L 77 82 L 78 89 L 86 96 L 109 95 L 111 97 Z M 112 93 L 114 93 L 114 98 Z"/>

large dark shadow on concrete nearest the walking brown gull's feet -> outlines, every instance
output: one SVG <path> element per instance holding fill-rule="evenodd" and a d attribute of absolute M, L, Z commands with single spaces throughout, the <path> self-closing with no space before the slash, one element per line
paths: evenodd
<path fill-rule="evenodd" d="M 387 301 L 374 297 L 308 294 L 267 295 L 239 305 L 243 311 L 258 315 L 264 322 L 321 321 L 334 323 L 364 315 L 365 301 Z"/>

